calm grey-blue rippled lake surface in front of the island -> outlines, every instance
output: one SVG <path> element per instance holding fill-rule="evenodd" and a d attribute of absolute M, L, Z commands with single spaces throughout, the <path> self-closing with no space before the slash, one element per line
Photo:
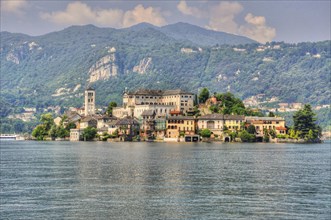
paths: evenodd
<path fill-rule="evenodd" d="M 330 219 L 331 146 L 1 142 L 1 219 Z"/>

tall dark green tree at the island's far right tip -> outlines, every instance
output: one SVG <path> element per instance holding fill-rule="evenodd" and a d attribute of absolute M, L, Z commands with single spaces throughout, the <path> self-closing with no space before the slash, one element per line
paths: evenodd
<path fill-rule="evenodd" d="M 316 125 L 316 114 L 309 104 L 293 115 L 294 130 L 299 131 L 299 137 L 314 140 L 321 136 L 321 128 Z"/>

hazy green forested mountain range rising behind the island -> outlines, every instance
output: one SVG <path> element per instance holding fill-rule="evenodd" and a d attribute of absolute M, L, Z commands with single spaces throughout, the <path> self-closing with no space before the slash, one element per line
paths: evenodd
<path fill-rule="evenodd" d="M 330 101 L 330 41 L 260 45 L 184 23 L 87 25 L 37 37 L 1 32 L 0 59 L 0 101 L 16 107 L 81 106 L 89 83 L 99 105 L 121 102 L 125 88 L 142 87 Z"/>

